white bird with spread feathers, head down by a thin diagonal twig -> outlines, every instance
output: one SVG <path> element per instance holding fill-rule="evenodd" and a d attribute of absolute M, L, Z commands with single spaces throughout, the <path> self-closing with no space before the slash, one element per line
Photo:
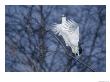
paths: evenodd
<path fill-rule="evenodd" d="M 54 24 L 52 31 L 62 36 L 66 46 L 70 46 L 72 53 L 79 55 L 79 26 L 78 24 L 65 16 L 62 16 L 61 24 Z"/>

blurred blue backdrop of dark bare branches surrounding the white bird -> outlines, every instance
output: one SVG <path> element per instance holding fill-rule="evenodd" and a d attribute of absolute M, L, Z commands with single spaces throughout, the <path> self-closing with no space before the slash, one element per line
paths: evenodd
<path fill-rule="evenodd" d="M 78 57 L 50 33 L 62 15 L 79 25 Z M 106 72 L 106 6 L 6 5 L 5 71 Z"/>

